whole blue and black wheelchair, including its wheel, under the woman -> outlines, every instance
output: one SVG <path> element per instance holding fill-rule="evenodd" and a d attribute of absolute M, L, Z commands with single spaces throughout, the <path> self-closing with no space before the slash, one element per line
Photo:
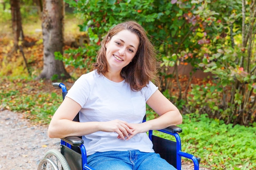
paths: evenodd
<path fill-rule="evenodd" d="M 53 83 L 56 89 L 62 89 L 62 97 L 65 98 L 67 88 L 63 83 Z M 79 121 L 79 114 L 73 121 Z M 146 121 L 146 116 L 144 117 Z M 182 129 L 177 126 L 158 130 L 175 137 L 176 141 L 167 140 L 153 135 L 153 130 L 148 132 L 148 137 L 153 142 L 153 149 L 160 157 L 173 165 L 177 170 L 182 170 L 182 157 L 191 159 L 194 163 L 194 170 L 199 170 L 200 158 L 181 151 L 181 140 L 178 133 Z M 61 139 L 61 152 L 49 150 L 40 161 L 38 170 L 94 170 L 87 164 L 86 149 L 81 137 L 65 137 Z"/>

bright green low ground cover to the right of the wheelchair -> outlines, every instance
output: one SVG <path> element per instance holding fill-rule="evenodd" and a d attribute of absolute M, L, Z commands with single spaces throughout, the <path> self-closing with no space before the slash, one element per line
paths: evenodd
<path fill-rule="evenodd" d="M 148 119 L 155 114 L 148 111 Z M 256 127 L 224 124 L 207 115 L 183 115 L 179 125 L 182 151 L 201 158 L 200 166 L 211 170 L 255 170 Z M 173 140 L 170 135 L 155 132 L 158 136 Z M 183 159 L 188 161 L 188 159 Z"/>

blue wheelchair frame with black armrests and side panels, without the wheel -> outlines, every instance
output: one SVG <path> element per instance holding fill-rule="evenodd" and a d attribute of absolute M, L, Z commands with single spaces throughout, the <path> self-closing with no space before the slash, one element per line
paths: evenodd
<path fill-rule="evenodd" d="M 62 89 L 62 97 L 64 99 L 65 95 L 67 94 L 66 86 L 63 83 L 53 83 L 52 85 L 54 86 L 54 88 Z M 73 121 L 79 121 L 77 120 L 77 117 L 75 119 Z M 144 118 L 144 121 L 146 121 L 146 117 Z M 176 162 L 168 162 L 171 163 L 175 168 L 177 168 L 177 170 L 182 170 L 182 157 L 191 159 L 194 163 L 194 170 L 199 170 L 200 158 L 197 158 L 194 155 L 181 151 L 181 140 L 178 134 L 182 132 L 181 128 L 177 126 L 170 126 L 168 128 L 158 131 L 164 132 L 169 135 L 173 135 L 176 139 L 176 142 L 154 136 L 153 130 L 149 130 L 148 137 L 153 142 L 153 144 L 154 141 L 156 144 L 158 144 L 158 146 L 156 144 L 154 144 L 153 146 L 153 149 L 155 150 L 156 153 L 159 153 L 162 158 L 166 159 L 166 161 L 172 159 L 175 160 L 176 156 Z M 162 148 L 163 145 L 166 146 L 164 149 Z M 78 152 L 74 151 L 74 148 L 78 147 L 80 150 L 78 150 Z M 172 157 L 170 157 L 171 152 L 173 152 L 173 150 L 176 152 L 176 155 L 172 155 Z M 81 139 L 81 137 L 65 137 L 61 139 L 61 153 L 67 160 L 72 170 L 94 170 L 87 164 L 86 149 L 83 145 L 83 140 Z"/>

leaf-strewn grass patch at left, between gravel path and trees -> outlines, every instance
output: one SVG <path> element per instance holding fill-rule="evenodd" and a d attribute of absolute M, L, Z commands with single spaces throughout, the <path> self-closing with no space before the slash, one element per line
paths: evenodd
<path fill-rule="evenodd" d="M 51 87 L 50 82 L 31 79 L 1 79 L 0 110 L 20 112 L 34 124 L 48 124 L 59 104 L 61 95 Z"/>

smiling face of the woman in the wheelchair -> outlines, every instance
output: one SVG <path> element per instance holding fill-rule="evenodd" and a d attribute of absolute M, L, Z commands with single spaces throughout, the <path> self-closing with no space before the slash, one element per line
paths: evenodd
<path fill-rule="evenodd" d="M 108 71 L 121 71 L 135 56 L 139 46 L 139 38 L 135 33 L 122 30 L 112 36 L 106 43 L 106 59 Z"/>

